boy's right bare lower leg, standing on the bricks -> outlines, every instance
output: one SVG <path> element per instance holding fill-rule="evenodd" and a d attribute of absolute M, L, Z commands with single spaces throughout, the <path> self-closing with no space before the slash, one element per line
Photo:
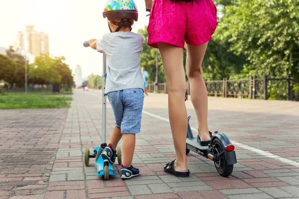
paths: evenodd
<path fill-rule="evenodd" d="M 136 134 L 124 133 L 123 136 L 123 164 L 126 167 L 131 167 L 135 150 Z"/>

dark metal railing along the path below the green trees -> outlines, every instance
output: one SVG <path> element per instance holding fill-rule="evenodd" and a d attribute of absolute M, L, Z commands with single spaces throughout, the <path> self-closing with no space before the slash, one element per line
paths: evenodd
<path fill-rule="evenodd" d="M 249 98 L 249 99 L 278 99 L 299 101 L 299 82 L 290 76 L 287 78 L 249 79 L 205 81 L 209 96 L 223 98 Z M 190 94 L 190 85 L 186 83 L 187 93 Z M 166 83 L 149 84 L 149 92 L 167 93 Z"/>

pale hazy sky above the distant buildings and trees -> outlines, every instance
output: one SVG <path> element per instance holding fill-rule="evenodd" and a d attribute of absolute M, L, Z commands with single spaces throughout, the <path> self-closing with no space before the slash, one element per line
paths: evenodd
<path fill-rule="evenodd" d="M 102 74 L 102 54 L 83 47 L 83 42 L 110 32 L 107 18 L 103 18 L 106 0 L 0 0 L 0 47 L 13 45 L 17 31 L 25 25 L 49 36 L 49 52 L 66 57 L 75 70 L 79 65 L 83 77 Z M 144 0 L 135 0 L 139 11 L 133 32 L 149 23 Z"/>

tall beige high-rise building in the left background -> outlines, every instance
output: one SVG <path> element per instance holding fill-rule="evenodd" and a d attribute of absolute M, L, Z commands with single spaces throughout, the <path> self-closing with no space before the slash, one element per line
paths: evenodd
<path fill-rule="evenodd" d="M 33 25 L 26 25 L 25 30 L 16 34 L 14 49 L 23 49 L 34 56 L 49 52 L 49 37 L 34 30 Z"/>

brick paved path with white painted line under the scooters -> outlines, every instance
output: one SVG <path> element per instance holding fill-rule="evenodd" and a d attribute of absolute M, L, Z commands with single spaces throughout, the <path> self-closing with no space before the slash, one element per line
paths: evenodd
<path fill-rule="evenodd" d="M 229 178 L 193 152 L 187 156 L 192 174 L 176 178 L 163 172 L 175 157 L 169 123 L 155 116 L 168 119 L 167 96 L 150 94 L 134 155 L 141 177 L 104 181 L 93 159 L 89 167 L 83 163 L 85 147 L 101 142 L 101 93 L 78 90 L 73 98 L 69 110 L 0 111 L 0 199 L 299 198 L 299 103 L 209 98 L 210 129 L 247 148 L 236 147 L 239 163 Z M 191 101 L 186 105 L 196 128 Z M 113 126 L 108 106 L 107 140 Z"/>

